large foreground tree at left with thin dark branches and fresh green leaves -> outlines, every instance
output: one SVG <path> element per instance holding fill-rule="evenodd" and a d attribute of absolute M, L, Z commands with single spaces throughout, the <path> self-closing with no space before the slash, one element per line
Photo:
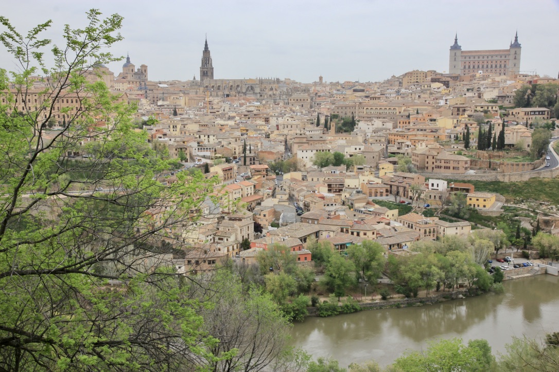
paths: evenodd
<path fill-rule="evenodd" d="M 0 22 L 18 66 L 0 70 L 2 369 L 184 370 L 213 359 L 216 340 L 202 328 L 190 279 L 174 271 L 174 251 L 160 240 L 196 223 L 191 211 L 215 180 L 201 172 L 181 172 L 165 187 L 152 180 L 170 161 L 135 131 L 135 108 L 89 79 L 97 65 L 119 60 L 108 48 L 122 40 L 122 17 L 92 9 L 84 28 L 64 28 L 59 46 L 42 36 L 51 21 L 23 34 Z M 31 92 L 37 103 L 20 100 L 23 116 L 11 115 Z M 79 110 L 58 109 L 69 97 Z M 57 112 L 66 125 L 47 135 Z M 68 161 L 89 153 L 94 144 L 82 141 L 91 136 L 101 144 L 96 156 Z M 106 192 L 88 192 L 97 185 Z"/>

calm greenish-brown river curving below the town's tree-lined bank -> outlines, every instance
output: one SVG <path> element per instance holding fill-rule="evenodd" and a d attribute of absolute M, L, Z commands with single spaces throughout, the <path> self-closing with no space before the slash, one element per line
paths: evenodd
<path fill-rule="evenodd" d="M 513 336 L 541 339 L 559 331 L 559 277 L 539 275 L 505 281 L 505 293 L 489 293 L 420 307 L 367 310 L 295 323 L 293 345 L 312 356 L 333 356 L 340 365 L 374 359 L 386 366 L 406 349 L 459 337 L 486 339 L 493 354 L 506 352 Z"/>

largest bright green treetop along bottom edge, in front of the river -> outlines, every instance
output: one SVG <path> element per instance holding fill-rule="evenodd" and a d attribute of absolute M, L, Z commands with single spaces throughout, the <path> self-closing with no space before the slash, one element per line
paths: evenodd
<path fill-rule="evenodd" d="M 486 340 L 471 340 L 464 345 L 460 339 L 431 342 L 427 351 L 411 351 L 396 359 L 397 371 L 479 371 L 489 370 L 494 357 Z"/>

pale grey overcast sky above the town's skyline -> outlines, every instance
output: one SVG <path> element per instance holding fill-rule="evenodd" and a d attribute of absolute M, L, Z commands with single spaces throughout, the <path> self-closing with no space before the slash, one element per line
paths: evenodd
<path fill-rule="evenodd" d="M 477 50 L 508 49 L 517 30 L 520 70 L 559 72 L 559 0 L 20 0 L 4 2 L 0 14 L 20 31 L 51 19 L 48 35 L 61 44 L 64 24 L 83 26 L 91 7 L 124 17 L 125 40 L 112 52 L 148 65 L 150 80 L 199 79 L 206 33 L 216 79 L 381 81 L 442 72 L 454 32 L 462 50 Z M 108 67 L 116 75 L 123 62 Z M 14 66 L 2 47 L 0 67 Z"/>

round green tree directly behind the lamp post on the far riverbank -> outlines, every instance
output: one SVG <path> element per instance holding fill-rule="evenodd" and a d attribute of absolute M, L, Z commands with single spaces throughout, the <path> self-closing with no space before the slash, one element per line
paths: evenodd
<path fill-rule="evenodd" d="M 347 249 L 348 257 L 356 267 L 357 279 L 376 283 L 385 267 L 386 250 L 376 241 L 365 240 L 361 244 L 352 244 Z"/>

